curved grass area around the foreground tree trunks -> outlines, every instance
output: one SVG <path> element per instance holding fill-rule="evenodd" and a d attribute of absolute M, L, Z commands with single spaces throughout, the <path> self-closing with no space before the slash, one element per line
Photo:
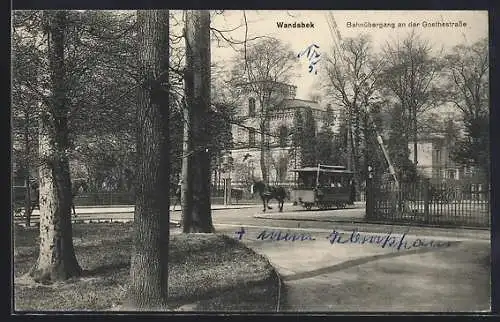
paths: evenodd
<path fill-rule="evenodd" d="M 15 228 L 16 311 L 103 311 L 119 309 L 130 269 L 132 225 L 74 224 L 82 277 L 41 285 L 26 276 L 38 256 L 36 228 Z M 197 311 L 274 311 L 277 276 L 267 259 L 219 234 L 172 234 L 169 305 Z"/>

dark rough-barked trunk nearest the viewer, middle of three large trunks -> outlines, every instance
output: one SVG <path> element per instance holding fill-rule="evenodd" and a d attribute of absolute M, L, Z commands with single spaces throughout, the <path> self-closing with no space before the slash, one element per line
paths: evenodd
<path fill-rule="evenodd" d="M 137 187 L 127 308 L 167 309 L 170 221 L 169 13 L 140 10 Z"/>

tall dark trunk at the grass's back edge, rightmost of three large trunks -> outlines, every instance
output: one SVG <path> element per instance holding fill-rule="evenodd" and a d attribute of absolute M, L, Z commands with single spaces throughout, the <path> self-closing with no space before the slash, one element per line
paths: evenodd
<path fill-rule="evenodd" d="M 210 108 L 210 12 L 186 12 L 186 108 L 188 109 L 187 176 L 183 231 L 214 232 L 210 207 L 210 154 L 208 111 Z M 189 204 L 191 203 L 191 204 Z"/>

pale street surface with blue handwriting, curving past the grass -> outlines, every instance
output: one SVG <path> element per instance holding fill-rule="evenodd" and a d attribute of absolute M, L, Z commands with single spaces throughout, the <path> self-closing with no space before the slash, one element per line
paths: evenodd
<path fill-rule="evenodd" d="M 285 204 L 283 213 L 271 205 L 275 209 L 265 214 L 261 205 L 214 206 L 212 217 L 217 232 L 236 239 L 241 235 L 242 242 L 276 267 L 284 283 L 281 311 L 490 310 L 487 230 L 363 223 L 362 203 L 327 211 L 302 211 Z M 133 207 L 81 208 L 77 213 L 77 220 L 133 220 Z M 180 211 L 171 212 L 171 221 L 179 220 Z M 242 228 L 245 233 L 237 233 Z M 419 239 L 446 246 L 398 250 L 369 242 L 330 243 L 334 230 L 347 240 L 353 229 L 368 237 L 406 234 L 409 245 Z M 172 230 L 180 233 L 178 228 Z M 308 235 L 314 240 L 258 240 L 263 231 Z"/>

